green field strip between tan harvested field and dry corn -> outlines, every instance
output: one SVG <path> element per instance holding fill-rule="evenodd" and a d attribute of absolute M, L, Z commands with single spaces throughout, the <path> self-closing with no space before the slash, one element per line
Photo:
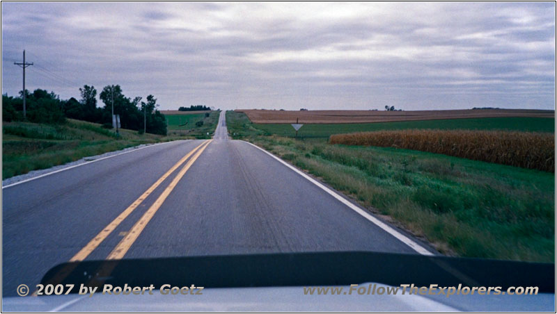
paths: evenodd
<path fill-rule="evenodd" d="M 246 117 L 247 119 L 247 117 Z M 329 138 L 331 134 L 402 129 L 467 129 L 555 132 L 555 119 L 538 117 L 494 117 L 478 119 L 441 119 L 403 122 L 377 122 L 361 124 L 304 124 L 299 137 Z M 253 124 L 267 134 L 295 136 L 290 124 Z"/>

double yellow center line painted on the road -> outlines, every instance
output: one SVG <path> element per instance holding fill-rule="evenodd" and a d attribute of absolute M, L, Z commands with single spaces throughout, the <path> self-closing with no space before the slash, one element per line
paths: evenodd
<path fill-rule="evenodd" d="M 101 244 L 101 242 L 104 241 L 104 239 L 106 239 L 109 234 L 112 233 L 112 231 L 114 231 L 116 227 L 118 227 L 118 225 L 123 222 L 123 220 L 125 220 L 126 217 L 128 217 L 137 208 L 137 206 L 141 204 L 141 202 L 143 202 L 166 178 L 168 178 L 168 176 L 170 176 L 174 172 L 174 170 L 178 169 L 178 167 L 180 167 L 180 165 L 182 165 L 182 163 L 184 163 L 191 155 L 195 154 L 188 161 L 188 163 L 184 167 L 182 167 L 182 170 L 178 172 L 178 174 L 168 185 L 168 187 L 166 187 L 164 192 L 162 192 L 155 203 L 152 204 L 152 206 L 147 210 L 145 214 L 143 214 L 143 217 L 141 217 L 141 219 L 136 222 L 136 224 L 134 224 L 132 229 L 127 233 L 127 236 L 125 236 L 125 238 L 123 238 L 120 243 L 118 243 L 116 248 L 107 257 L 107 259 L 123 258 L 127 250 L 130 249 L 134 241 L 137 239 L 137 237 L 139 237 L 139 234 L 141 233 L 141 231 L 143 231 L 143 228 L 145 228 L 145 226 L 151 220 L 152 216 L 155 215 L 160 206 L 162 206 L 162 204 L 166 200 L 166 197 L 170 195 L 180 179 L 182 179 L 182 176 L 184 176 L 191 165 L 195 163 L 197 158 L 199 158 L 201 153 L 203 153 L 203 151 L 205 150 L 205 148 L 207 148 L 207 145 L 209 145 L 211 141 L 212 140 L 206 140 L 198 147 L 190 151 L 188 154 L 186 154 L 184 157 L 182 157 L 180 160 L 178 160 L 178 163 L 175 163 L 175 165 L 173 165 L 165 174 L 163 174 L 155 183 L 153 183 L 150 188 L 143 192 L 143 194 L 138 199 L 136 199 L 130 206 L 128 206 L 122 213 L 120 213 L 118 217 L 116 217 L 110 224 L 102 229 L 102 231 L 100 231 L 100 233 L 98 233 L 97 236 L 93 238 L 93 240 L 89 241 L 88 244 L 83 247 L 83 249 L 77 252 L 77 254 L 75 254 L 70 259 L 70 262 L 83 261 L 87 256 L 89 256 L 89 254 L 91 254 L 91 252 L 93 252 Z"/>

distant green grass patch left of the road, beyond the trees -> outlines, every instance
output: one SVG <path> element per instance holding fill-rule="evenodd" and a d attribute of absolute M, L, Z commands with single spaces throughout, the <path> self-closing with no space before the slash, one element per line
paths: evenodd
<path fill-rule="evenodd" d="M 214 129 L 217 128 L 219 111 L 207 111 L 207 113 L 209 113 L 208 117 L 205 117 L 205 113 L 165 115 L 168 135 L 187 136 L 198 139 L 211 138 Z M 196 125 L 196 122 L 200 121 L 203 121 L 203 125 Z M 207 135 L 207 133 L 209 134 Z"/>

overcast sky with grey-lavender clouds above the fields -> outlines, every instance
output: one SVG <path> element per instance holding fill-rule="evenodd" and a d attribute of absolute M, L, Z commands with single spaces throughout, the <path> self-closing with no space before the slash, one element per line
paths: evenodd
<path fill-rule="evenodd" d="M 2 3 L 2 93 L 162 109 L 552 109 L 555 3 Z"/>

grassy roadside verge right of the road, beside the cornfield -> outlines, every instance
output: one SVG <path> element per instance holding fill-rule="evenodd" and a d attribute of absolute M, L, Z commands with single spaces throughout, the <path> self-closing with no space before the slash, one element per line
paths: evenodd
<path fill-rule="evenodd" d="M 554 174 L 422 151 L 265 135 L 260 125 L 233 112 L 227 125 L 233 137 L 310 172 L 445 254 L 554 261 Z"/>

